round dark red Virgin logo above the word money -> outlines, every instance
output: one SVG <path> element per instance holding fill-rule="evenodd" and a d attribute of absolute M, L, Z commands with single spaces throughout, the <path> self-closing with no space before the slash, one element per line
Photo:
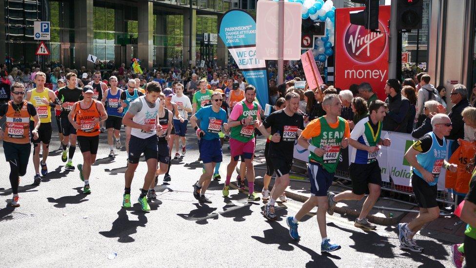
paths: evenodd
<path fill-rule="evenodd" d="M 349 56 L 357 62 L 373 62 L 382 55 L 387 45 L 387 35 L 381 23 L 381 33 L 369 32 L 361 25 L 351 24 L 344 37 L 345 49 Z"/>

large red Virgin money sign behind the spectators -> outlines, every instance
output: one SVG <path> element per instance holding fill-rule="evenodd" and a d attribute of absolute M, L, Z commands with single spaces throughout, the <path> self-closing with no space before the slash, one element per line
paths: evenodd
<path fill-rule="evenodd" d="M 378 30 L 370 32 L 363 26 L 350 23 L 349 14 L 364 8 L 336 9 L 336 87 L 349 89 L 351 84 L 368 82 L 380 100 L 388 79 L 388 49 L 390 6 L 380 6 Z"/>

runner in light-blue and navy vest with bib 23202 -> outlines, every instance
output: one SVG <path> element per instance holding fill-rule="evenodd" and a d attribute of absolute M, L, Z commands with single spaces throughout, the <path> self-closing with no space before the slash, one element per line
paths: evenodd
<path fill-rule="evenodd" d="M 102 103 L 106 106 L 107 120 L 107 144 L 109 145 L 109 157 L 115 157 L 114 153 L 114 140 L 116 141 L 116 149 L 120 149 L 120 126 L 122 125 L 122 112 L 123 107 L 120 104 L 120 96 L 122 89 L 118 88 L 118 78 L 111 76 L 109 78 L 110 89 L 104 91 L 102 97 Z M 114 138 L 113 138 L 114 136 Z"/>

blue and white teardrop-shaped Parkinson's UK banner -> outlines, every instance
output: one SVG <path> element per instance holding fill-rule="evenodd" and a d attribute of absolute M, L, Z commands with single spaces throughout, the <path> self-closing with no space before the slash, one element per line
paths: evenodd
<path fill-rule="evenodd" d="M 246 78 L 256 87 L 261 107 L 268 103 L 266 62 L 256 57 L 256 21 L 242 9 L 227 11 L 220 21 L 219 37 Z"/>

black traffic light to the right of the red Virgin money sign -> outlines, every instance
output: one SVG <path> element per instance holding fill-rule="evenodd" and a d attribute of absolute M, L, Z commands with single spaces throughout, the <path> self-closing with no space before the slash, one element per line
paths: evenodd
<path fill-rule="evenodd" d="M 423 0 L 397 0 L 397 30 L 421 29 Z"/>

